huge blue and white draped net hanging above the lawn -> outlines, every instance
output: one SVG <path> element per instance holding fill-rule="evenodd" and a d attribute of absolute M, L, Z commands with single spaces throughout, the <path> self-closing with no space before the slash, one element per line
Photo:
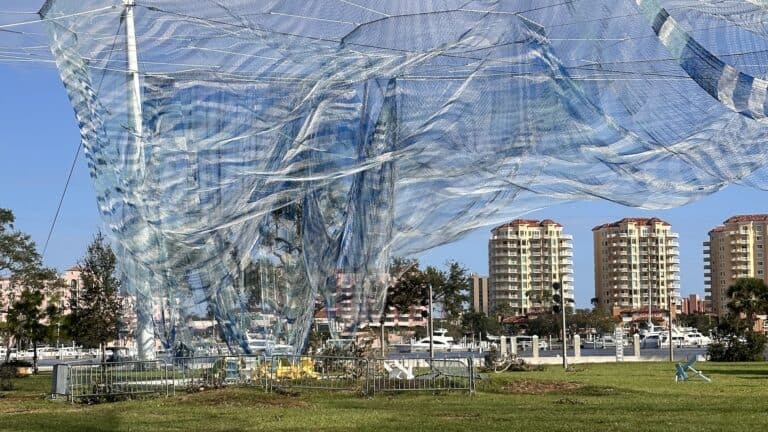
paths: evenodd
<path fill-rule="evenodd" d="M 49 0 L 41 15 L 139 320 L 194 344 L 189 320 L 212 314 L 248 351 L 248 332 L 300 349 L 317 298 L 338 331 L 378 322 L 393 255 L 533 209 L 765 188 L 767 8 Z"/>

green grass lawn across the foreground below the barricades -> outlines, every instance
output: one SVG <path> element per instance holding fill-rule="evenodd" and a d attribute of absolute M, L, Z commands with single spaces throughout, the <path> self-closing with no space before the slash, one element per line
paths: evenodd
<path fill-rule="evenodd" d="M 768 363 L 698 363 L 713 379 L 675 383 L 669 363 L 492 374 L 474 395 L 287 396 L 227 388 L 85 406 L 46 399 L 50 375 L 0 393 L 0 431 L 761 431 Z"/>

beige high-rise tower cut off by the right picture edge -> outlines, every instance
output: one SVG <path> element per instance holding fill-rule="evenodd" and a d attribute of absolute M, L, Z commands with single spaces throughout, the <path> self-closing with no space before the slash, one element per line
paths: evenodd
<path fill-rule="evenodd" d="M 709 232 L 704 242 L 704 290 L 712 312 L 725 315 L 728 287 L 742 277 L 768 282 L 765 260 L 765 235 L 768 215 L 743 215 L 726 219 Z"/>

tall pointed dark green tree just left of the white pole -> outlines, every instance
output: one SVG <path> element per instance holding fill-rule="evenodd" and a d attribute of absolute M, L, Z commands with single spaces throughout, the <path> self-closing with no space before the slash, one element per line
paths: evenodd
<path fill-rule="evenodd" d="M 107 342 L 118 337 L 121 301 L 116 263 L 112 247 L 101 232 L 97 233 L 80 263 L 80 298 L 76 302 L 73 299 L 71 305 L 72 336 L 85 347 L 101 347 L 102 360 Z"/>

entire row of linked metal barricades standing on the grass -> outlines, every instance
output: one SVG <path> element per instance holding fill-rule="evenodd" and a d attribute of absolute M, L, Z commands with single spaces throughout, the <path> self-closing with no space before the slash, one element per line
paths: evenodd
<path fill-rule="evenodd" d="M 458 353 L 457 353 L 458 354 Z M 230 385 L 273 389 L 376 392 L 473 392 L 472 357 L 368 359 L 302 355 L 179 357 L 66 367 L 72 402 L 111 401 L 142 394 L 173 396 Z M 60 389 L 54 384 L 54 392 Z"/>

